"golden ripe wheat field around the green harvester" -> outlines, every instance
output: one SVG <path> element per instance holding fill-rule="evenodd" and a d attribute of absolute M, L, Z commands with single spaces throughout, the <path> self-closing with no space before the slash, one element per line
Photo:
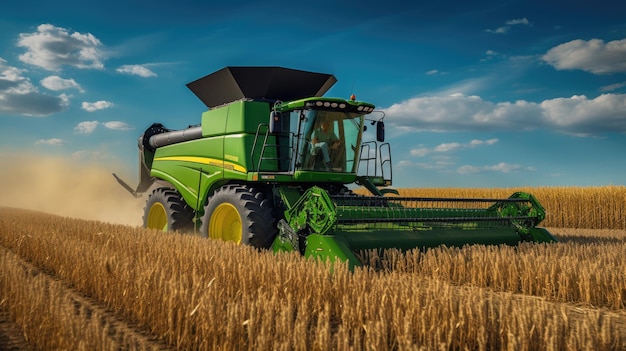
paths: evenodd
<path fill-rule="evenodd" d="M 548 208 L 546 222 L 587 220 L 550 227 L 558 244 L 373 252 L 381 268 L 354 272 L 296 254 L 0 207 L 0 308 L 37 349 L 626 348 L 626 230 L 591 222 L 609 213 L 617 217 L 611 225 L 623 223 L 624 189 L 543 190 L 529 192 Z M 463 191 L 402 193 L 511 193 Z M 550 201 L 569 212 L 554 212 Z"/>

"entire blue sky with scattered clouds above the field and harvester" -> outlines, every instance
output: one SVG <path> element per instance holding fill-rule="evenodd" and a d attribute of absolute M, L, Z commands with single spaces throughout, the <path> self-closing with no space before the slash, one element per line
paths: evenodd
<path fill-rule="evenodd" d="M 626 184 L 621 1 L 10 2 L 0 155 L 134 176 L 138 136 L 199 123 L 185 84 L 225 66 L 334 74 L 385 112 L 398 187 Z"/>

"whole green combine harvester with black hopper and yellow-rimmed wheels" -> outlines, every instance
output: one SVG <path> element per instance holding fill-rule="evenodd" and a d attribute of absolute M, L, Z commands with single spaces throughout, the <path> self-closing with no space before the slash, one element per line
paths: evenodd
<path fill-rule="evenodd" d="M 153 124 L 139 138 L 144 226 L 198 231 L 276 252 L 363 264 L 368 249 L 554 242 L 530 194 L 508 199 L 404 198 L 391 185 L 384 114 L 323 97 L 329 74 L 226 67 L 187 84 L 209 108 L 201 124 Z M 376 125 L 376 140 L 363 140 Z M 347 185 L 366 188 L 355 195 Z"/>

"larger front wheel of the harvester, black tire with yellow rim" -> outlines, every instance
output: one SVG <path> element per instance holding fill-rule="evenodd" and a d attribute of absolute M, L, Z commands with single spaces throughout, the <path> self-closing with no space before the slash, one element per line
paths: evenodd
<path fill-rule="evenodd" d="M 207 200 L 200 233 L 211 239 L 269 248 L 276 236 L 270 200 L 245 185 L 225 185 Z"/>

